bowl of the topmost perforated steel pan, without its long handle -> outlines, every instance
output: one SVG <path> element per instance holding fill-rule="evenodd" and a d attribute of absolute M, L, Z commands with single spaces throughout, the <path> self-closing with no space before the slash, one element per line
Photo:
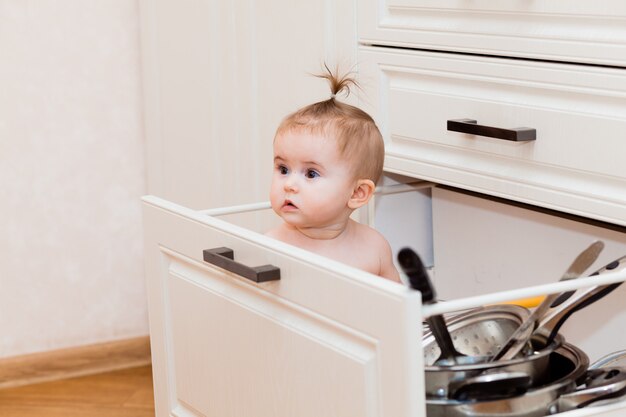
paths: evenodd
<path fill-rule="evenodd" d="M 439 350 L 433 335 L 424 334 L 424 363 L 426 396 L 432 398 L 455 398 L 457 390 L 465 390 L 463 381 L 473 383 L 471 378 L 486 372 L 516 372 L 516 380 L 523 384 L 520 373 L 526 375 L 531 386 L 542 384 L 548 378 L 550 353 L 563 343 L 557 337 L 545 346 L 542 339 L 534 340 L 537 350 L 529 346 L 517 357 L 497 362 L 487 362 L 501 343 L 515 332 L 529 315 L 524 307 L 494 305 L 468 310 L 447 320 L 448 330 L 455 348 L 467 355 L 463 362 L 450 366 L 435 365 Z M 532 329 L 530 329 L 532 331 Z"/>

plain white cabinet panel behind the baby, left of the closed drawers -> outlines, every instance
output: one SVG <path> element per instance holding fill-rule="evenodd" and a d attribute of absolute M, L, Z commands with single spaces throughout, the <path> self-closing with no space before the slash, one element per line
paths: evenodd
<path fill-rule="evenodd" d="M 148 192 L 203 209 L 267 199 L 281 119 L 356 62 L 354 2 L 142 0 Z M 219 190 L 219 192 L 216 192 Z"/>

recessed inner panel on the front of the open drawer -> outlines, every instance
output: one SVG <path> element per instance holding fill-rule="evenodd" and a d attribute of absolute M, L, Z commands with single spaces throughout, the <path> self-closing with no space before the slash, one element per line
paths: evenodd
<path fill-rule="evenodd" d="M 379 407 L 375 339 L 188 263 L 170 271 L 181 401 L 206 415 L 272 415 L 281 403 L 284 415 L 367 415 Z M 338 379 L 349 383 L 333 385 Z M 257 400 L 242 401 L 250 395 Z"/>

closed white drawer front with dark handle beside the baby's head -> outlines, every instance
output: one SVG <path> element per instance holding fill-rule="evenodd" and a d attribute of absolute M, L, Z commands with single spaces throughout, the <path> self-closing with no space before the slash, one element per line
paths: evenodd
<path fill-rule="evenodd" d="M 626 71 L 363 47 L 359 72 L 387 170 L 626 223 Z M 453 119 L 537 139 L 448 131 Z"/>

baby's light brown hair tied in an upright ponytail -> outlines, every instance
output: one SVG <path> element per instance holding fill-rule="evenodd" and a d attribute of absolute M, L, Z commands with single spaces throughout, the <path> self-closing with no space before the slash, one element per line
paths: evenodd
<path fill-rule="evenodd" d="M 305 130 L 337 141 L 339 153 L 352 162 L 355 178 L 377 183 L 383 172 L 385 145 L 374 120 L 363 110 L 342 103 L 337 94 L 350 94 L 357 82 L 345 74 L 339 76 L 324 65 L 326 72 L 316 75 L 330 84 L 331 97 L 297 110 L 285 117 L 276 130 L 276 136 L 290 130 Z M 276 137 L 275 136 L 275 137 Z"/>

